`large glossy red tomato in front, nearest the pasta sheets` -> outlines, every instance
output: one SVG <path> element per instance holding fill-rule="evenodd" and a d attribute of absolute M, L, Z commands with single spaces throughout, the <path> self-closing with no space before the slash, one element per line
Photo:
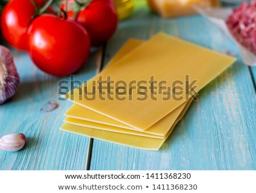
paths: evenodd
<path fill-rule="evenodd" d="M 57 76 L 80 69 L 90 51 L 86 30 L 74 22 L 45 14 L 38 16 L 27 30 L 27 51 L 35 65 Z"/>

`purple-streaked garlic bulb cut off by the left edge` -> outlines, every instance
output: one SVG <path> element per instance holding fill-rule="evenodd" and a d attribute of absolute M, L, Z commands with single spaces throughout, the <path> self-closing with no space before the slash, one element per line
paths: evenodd
<path fill-rule="evenodd" d="M 0 104 L 10 99 L 18 88 L 19 74 L 11 51 L 0 45 Z"/>

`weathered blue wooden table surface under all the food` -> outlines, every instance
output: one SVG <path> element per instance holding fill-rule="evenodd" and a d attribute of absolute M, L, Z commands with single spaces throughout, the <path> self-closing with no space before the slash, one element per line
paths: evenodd
<path fill-rule="evenodd" d="M 57 82 L 68 77 L 40 72 L 27 53 L 12 49 L 21 82 L 14 98 L 0 107 L 0 136 L 24 133 L 28 143 L 19 152 L 0 150 L 0 169 L 255 170 L 256 68 L 243 64 L 232 40 L 201 16 L 162 19 L 138 5 L 131 18 L 119 23 L 112 39 L 92 52 L 75 78 L 92 78 L 130 37 L 147 40 L 159 31 L 236 54 L 238 61 L 200 91 L 199 101 L 192 103 L 158 152 L 60 131 L 72 103 L 59 102 L 52 112 L 40 108 L 57 99 Z"/>

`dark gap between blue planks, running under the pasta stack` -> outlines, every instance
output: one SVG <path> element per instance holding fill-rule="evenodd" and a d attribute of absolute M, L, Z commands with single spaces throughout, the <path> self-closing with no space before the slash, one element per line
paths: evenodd
<path fill-rule="evenodd" d="M 101 70 L 104 68 L 104 62 L 105 62 L 105 56 L 106 56 L 106 45 L 107 43 L 105 43 L 104 45 L 102 45 L 100 52 L 101 52 L 101 56 L 100 56 L 100 62 L 99 65 L 97 64 L 98 68 L 97 68 L 97 74 L 101 72 Z M 87 151 L 87 159 L 85 161 L 85 170 L 90 170 L 90 162 L 92 160 L 92 150 L 93 150 L 93 138 L 90 138 L 90 142 L 89 142 L 89 147 L 88 147 L 88 151 Z"/>

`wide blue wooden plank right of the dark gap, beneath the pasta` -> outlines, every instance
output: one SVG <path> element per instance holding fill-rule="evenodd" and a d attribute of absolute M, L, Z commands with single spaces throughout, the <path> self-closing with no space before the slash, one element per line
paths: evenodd
<path fill-rule="evenodd" d="M 105 61 L 130 37 L 148 39 L 159 31 L 219 52 L 238 53 L 232 41 L 201 16 L 161 19 L 140 7 L 119 24 Z M 94 140 L 90 169 L 256 169 L 255 107 L 249 69 L 238 61 L 200 92 L 200 100 L 192 103 L 158 152 Z"/>

